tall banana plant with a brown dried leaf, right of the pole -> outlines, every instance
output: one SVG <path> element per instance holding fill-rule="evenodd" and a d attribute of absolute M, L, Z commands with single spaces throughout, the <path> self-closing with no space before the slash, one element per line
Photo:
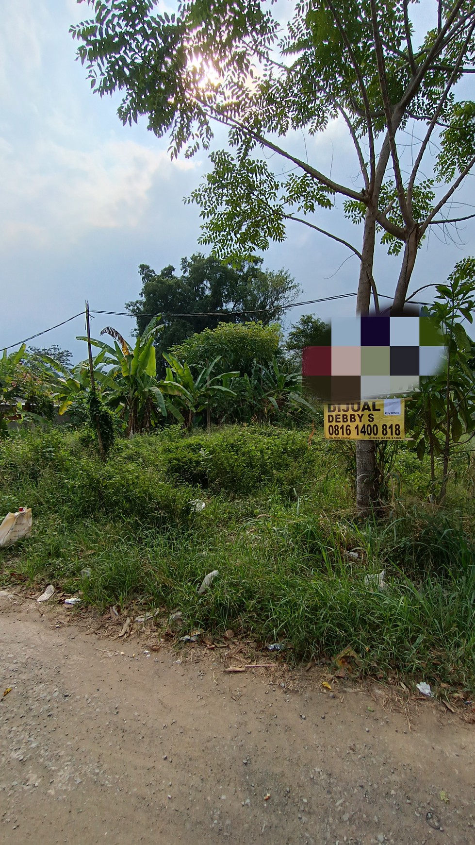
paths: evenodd
<path fill-rule="evenodd" d="M 157 325 L 159 319 L 158 314 L 150 320 L 133 347 L 111 326 L 106 326 L 100 334 L 110 335 L 114 346 L 93 338 L 90 341 L 104 353 L 100 368 L 94 372 L 95 379 L 107 404 L 125 421 L 127 436 L 153 428 L 169 410 L 157 384 L 154 340 L 162 330 Z M 87 337 L 78 337 L 78 341 L 87 341 Z M 99 358 L 95 359 L 96 364 Z"/>

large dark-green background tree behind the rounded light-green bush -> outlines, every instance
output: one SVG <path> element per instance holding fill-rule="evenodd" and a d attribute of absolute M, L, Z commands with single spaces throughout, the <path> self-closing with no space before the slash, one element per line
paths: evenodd
<path fill-rule="evenodd" d="M 215 329 L 220 321 L 273 323 L 300 292 L 287 270 L 262 270 L 262 258 L 231 267 L 197 253 L 181 259 L 180 276 L 171 265 L 157 274 L 148 264 L 140 264 L 139 272 L 143 283 L 140 299 L 127 303 L 126 308 L 137 317 L 138 332 L 148 324 L 150 315 L 163 315 L 165 328 L 155 343 L 159 373 L 165 373 L 162 353 L 186 337 Z M 219 316 L 214 312 L 220 312 Z"/>

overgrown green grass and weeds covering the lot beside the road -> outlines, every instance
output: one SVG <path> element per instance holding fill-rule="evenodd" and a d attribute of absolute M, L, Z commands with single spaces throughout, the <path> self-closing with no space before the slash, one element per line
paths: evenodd
<path fill-rule="evenodd" d="M 1 554 L 3 581 L 16 570 L 100 608 L 180 608 L 190 630 L 231 627 L 285 641 L 295 657 L 351 646 L 370 673 L 475 690 L 471 479 L 435 510 L 418 493 L 424 466 L 402 450 L 391 518 L 360 523 L 333 446 L 266 428 L 186 439 L 174 429 L 121 441 L 102 465 L 78 433 L 11 439 L 0 512 L 30 505 L 35 530 Z M 199 513 L 195 499 L 206 501 Z M 383 569 L 381 591 L 365 576 Z"/>

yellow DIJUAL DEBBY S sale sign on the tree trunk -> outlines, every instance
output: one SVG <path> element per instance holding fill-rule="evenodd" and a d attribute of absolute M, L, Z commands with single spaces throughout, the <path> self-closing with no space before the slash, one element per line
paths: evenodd
<path fill-rule="evenodd" d="M 331 440 L 403 440 L 404 400 L 378 399 L 324 405 L 325 437 Z"/>

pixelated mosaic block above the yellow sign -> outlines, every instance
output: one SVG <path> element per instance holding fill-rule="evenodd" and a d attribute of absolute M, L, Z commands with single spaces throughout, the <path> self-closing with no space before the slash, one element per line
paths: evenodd
<path fill-rule="evenodd" d="M 332 320 L 321 346 L 302 351 L 305 390 L 321 401 L 403 396 L 440 372 L 444 339 L 429 316 L 364 316 Z"/>

